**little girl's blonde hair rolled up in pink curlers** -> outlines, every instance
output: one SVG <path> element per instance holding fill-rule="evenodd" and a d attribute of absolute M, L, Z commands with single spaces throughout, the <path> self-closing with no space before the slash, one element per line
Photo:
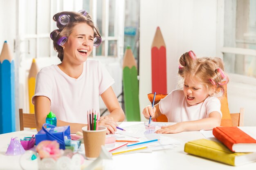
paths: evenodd
<path fill-rule="evenodd" d="M 216 87 L 215 94 L 223 94 L 224 85 L 229 82 L 229 78 L 223 71 L 224 64 L 221 58 L 197 58 L 193 51 L 189 51 L 180 56 L 179 62 L 178 75 L 182 77 L 182 83 L 185 77 L 194 77 L 208 89 Z"/>

